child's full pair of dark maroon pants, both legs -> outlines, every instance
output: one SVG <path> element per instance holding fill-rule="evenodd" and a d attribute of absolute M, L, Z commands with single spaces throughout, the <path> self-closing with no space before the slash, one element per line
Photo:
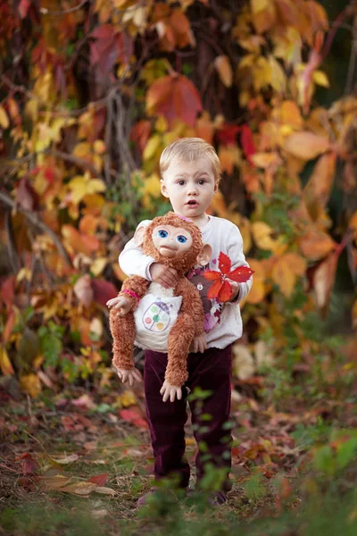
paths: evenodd
<path fill-rule="evenodd" d="M 190 466 L 185 458 L 185 430 L 187 421 L 187 388 L 209 390 L 206 398 L 189 402 L 195 440 L 199 446 L 195 459 L 197 482 L 203 477 L 204 465 L 227 470 L 231 466 L 232 437 L 227 426 L 229 420 L 232 354 L 227 348 L 208 348 L 202 354 L 189 354 L 188 380 L 182 389 L 182 399 L 162 402 L 160 389 L 164 381 L 167 354 L 145 351 L 144 385 L 146 416 L 154 450 L 154 476 L 160 480 L 175 475 L 179 486 L 187 487 Z M 202 391 L 201 391 L 202 392 Z M 208 416 L 211 415 L 211 416 Z M 226 488 L 228 489 L 228 488 Z"/>

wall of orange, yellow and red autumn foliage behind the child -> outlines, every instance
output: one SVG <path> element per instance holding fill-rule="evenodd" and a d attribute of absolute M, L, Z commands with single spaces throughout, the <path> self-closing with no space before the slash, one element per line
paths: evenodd
<path fill-rule="evenodd" d="M 169 208 L 162 149 L 197 136 L 224 172 L 212 214 L 254 270 L 237 381 L 306 374 L 303 397 L 319 364 L 328 392 L 356 364 L 355 73 L 328 63 L 356 2 L 333 20 L 314 0 L 73 4 L 0 0 L 3 376 L 31 397 L 109 381 L 118 254 Z"/>

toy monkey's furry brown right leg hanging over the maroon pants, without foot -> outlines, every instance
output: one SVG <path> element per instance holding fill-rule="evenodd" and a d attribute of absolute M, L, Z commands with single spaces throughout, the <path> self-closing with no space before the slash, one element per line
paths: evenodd
<path fill-rule="evenodd" d="M 171 385 L 183 385 L 187 381 L 187 355 L 195 337 L 195 324 L 188 313 L 180 313 L 172 327 L 168 340 L 168 365 L 165 380 Z"/>

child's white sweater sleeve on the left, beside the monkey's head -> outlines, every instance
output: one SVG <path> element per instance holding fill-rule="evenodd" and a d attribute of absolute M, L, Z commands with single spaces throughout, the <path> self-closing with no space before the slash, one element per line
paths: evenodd
<path fill-rule="evenodd" d="M 137 230 L 140 227 L 147 227 L 150 220 L 145 220 L 137 225 Z M 121 270 L 127 275 L 139 275 L 147 281 L 152 281 L 150 276 L 150 266 L 155 262 L 154 258 L 145 255 L 141 247 L 137 247 L 134 239 L 129 240 L 124 249 L 119 255 L 119 264 Z"/>

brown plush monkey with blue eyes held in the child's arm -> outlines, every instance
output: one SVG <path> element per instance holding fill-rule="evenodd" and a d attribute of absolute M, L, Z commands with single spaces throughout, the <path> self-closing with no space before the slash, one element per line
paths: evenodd
<path fill-rule="evenodd" d="M 175 268 L 179 279 L 174 289 L 134 275 L 122 284 L 120 302 L 111 310 L 112 363 L 119 375 L 135 377 L 134 342 L 139 348 L 167 352 L 168 364 L 161 389 L 163 400 L 181 398 L 187 381 L 187 355 L 193 339 L 203 339 L 203 305 L 195 286 L 185 273 L 197 264 L 208 264 L 209 244 L 203 244 L 194 222 L 172 212 L 158 216 L 134 237 L 137 246 L 155 262 Z M 122 376 L 120 375 L 122 378 Z M 123 379 L 123 378 L 122 378 Z M 166 398 L 165 398 L 166 392 Z"/>

